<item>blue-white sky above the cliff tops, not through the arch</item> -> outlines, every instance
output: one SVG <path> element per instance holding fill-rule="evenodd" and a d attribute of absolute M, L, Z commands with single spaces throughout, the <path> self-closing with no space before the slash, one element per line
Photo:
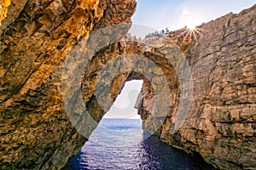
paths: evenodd
<path fill-rule="evenodd" d="M 139 26 L 131 33 L 160 31 L 166 27 L 175 31 L 185 26 L 199 26 L 230 12 L 238 14 L 255 3 L 256 0 L 137 0 L 137 11 L 132 21 Z"/>

